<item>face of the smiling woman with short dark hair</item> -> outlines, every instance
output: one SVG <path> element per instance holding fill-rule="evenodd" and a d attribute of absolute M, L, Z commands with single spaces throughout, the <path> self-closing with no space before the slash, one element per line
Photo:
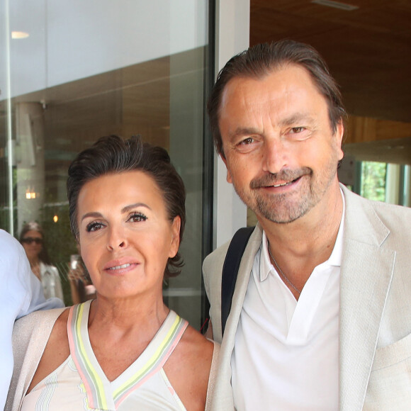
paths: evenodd
<path fill-rule="evenodd" d="M 98 295 L 161 298 L 167 259 L 179 249 L 180 218 L 169 220 L 152 177 L 125 171 L 87 182 L 77 223 L 81 257 Z"/>

